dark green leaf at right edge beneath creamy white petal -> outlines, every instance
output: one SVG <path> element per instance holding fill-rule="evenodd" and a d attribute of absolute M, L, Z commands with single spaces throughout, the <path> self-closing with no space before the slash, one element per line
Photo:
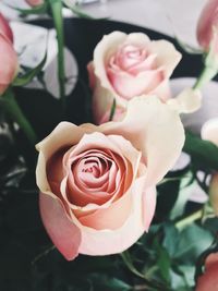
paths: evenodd
<path fill-rule="evenodd" d="M 213 143 L 186 131 L 183 151 L 191 155 L 192 161 L 198 167 L 218 170 L 218 147 Z"/>

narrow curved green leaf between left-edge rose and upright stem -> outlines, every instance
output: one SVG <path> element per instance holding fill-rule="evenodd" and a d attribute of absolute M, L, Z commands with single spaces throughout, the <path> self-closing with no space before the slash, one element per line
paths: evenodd
<path fill-rule="evenodd" d="M 31 69 L 27 73 L 23 74 L 22 76 L 17 75 L 15 80 L 13 81 L 12 85 L 13 86 L 25 86 L 28 83 L 31 83 L 31 81 L 40 73 L 41 69 L 44 68 L 46 63 L 46 59 L 47 59 L 47 52 L 45 53 L 44 59 L 40 61 L 40 63 L 36 68 Z"/>

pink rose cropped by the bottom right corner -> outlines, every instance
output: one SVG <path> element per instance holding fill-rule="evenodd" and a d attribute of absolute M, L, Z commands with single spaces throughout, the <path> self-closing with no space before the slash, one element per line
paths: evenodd
<path fill-rule="evenodd" d="M 197 279 L 195 291 L 218 291 L 218 253 L 206 258 L 205 271 Z"/>

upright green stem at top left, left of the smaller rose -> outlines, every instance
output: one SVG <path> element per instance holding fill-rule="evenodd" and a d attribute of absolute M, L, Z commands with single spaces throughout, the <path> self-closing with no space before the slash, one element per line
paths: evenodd
<path fill-rule="evenodd" d="M 65 112 L 64 32 L 62 1 L 49 0 L 58 39 L 58 77 L 62 110 Z"/>

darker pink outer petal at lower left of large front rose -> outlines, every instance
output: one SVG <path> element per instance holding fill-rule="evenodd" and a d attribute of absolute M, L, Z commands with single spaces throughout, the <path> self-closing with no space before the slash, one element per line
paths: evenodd
<path fill-rule="evenodd" d="M 81 231 L 68 218 L 61 202 L 40 194 L 39 206 L 44 226 L 53 244 L 66 259 L 75 258 L 78 255 Z"/>

